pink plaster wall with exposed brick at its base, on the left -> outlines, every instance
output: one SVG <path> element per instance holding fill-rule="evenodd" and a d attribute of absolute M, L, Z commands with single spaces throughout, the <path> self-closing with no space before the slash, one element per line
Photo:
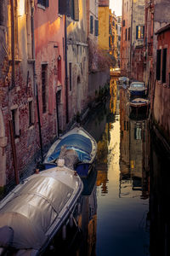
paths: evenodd
<path fill-rule="evenodd" d="M 35 51 L 37 88 L 42 125 L 42 143 L 49 143 L 59 130 L 65 129 L 65 20 L 59 15 L 58 1 L 42 8 L 35 3 Z M 42 113 L 42 65 L 47 65 L 46 112 Z M 56 93 L 59 92 L 58 119 Z"/>

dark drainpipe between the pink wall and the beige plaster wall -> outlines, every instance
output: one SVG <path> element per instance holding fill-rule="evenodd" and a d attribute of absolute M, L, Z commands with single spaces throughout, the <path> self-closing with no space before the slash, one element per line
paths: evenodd
<path fill-rule="evenodd" d="M 66 99 L 66 123 L 69 122 L 69 104 L 68 104 L 68 70 L 67 70 L 67 29 L 65 17 L 65 99 Z"/>

